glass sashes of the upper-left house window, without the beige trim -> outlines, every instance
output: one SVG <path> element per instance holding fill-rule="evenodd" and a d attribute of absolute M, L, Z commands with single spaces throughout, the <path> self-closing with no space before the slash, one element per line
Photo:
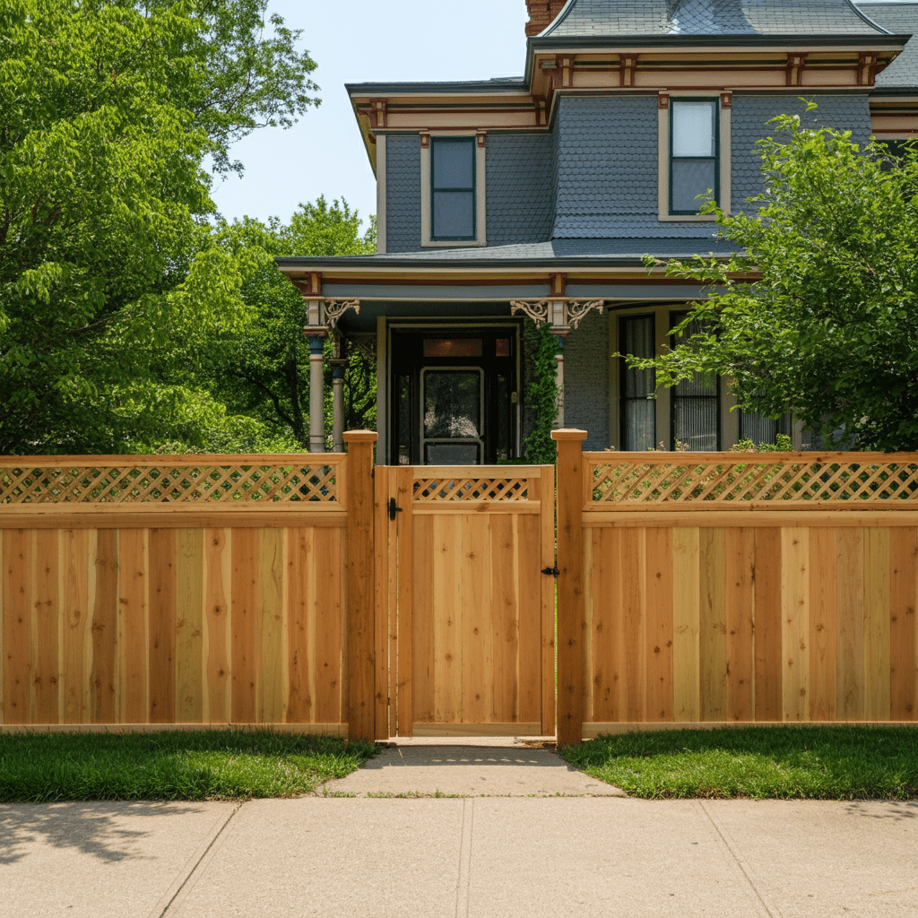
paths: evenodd
<path fill-rule="evenodd" d="M 475 232 L 475 138 L 431 138 L 431 239 L 472 241 Z"/>

